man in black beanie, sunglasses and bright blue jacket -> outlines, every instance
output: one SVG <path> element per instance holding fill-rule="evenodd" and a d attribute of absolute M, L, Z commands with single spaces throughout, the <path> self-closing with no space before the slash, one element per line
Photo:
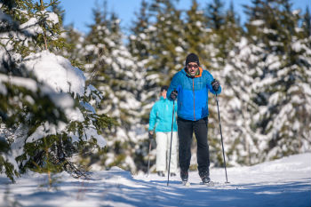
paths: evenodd
<path fill-rule="evenodd" d="M 178 135 L 180 178 L 184 183 L 188 179 L 191 159 L 191 141 L 193 132 L 197 140 L 197 164 L 199 175 L 204 184 L 210 182 L 210 152 L 207 141 L 208 92 L 219 94 L 219 81 L 200 68 L 198 57 L 194 53 L 187 55 L 186 68 L 181 69 L 171 80 L 167 92 L 170 100 L 178 97 Z"/>

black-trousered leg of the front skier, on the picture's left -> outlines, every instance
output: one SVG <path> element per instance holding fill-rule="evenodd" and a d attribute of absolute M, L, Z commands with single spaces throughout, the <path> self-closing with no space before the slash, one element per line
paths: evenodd
<path fill-rule="evenodd" d="M 190 166 L 191 159 L 191 140 L 193 133 L 193 122 L 185 119 L 178 118 L 178 136 L 179 136 L 179 167 L 180 177 L 186 179 L 186 175 Z"/>

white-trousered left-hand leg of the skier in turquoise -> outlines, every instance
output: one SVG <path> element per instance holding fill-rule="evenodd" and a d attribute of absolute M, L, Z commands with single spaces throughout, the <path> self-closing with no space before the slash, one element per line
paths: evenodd
<path fill-rule="evenodd" d="M 166 134 L 156 132 L 156 171 L 166 170 Z"/>

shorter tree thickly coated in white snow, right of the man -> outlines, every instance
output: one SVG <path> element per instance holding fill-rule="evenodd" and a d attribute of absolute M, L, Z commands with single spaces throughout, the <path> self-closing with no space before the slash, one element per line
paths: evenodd
<path fill-rule="evenodd" d="M 259 162 L 259 139 L 253 127 L 254 111 L 258 106 L 251 100 L 252 84 L 256 83 L 259 61 L 263 50 L 251 44 L 243 36 L 229 52 L 227 65 L 222 71 L 223 92 L 220 108 L 224 124 L 224 141 L 230 164 L 252 164 Z"/>

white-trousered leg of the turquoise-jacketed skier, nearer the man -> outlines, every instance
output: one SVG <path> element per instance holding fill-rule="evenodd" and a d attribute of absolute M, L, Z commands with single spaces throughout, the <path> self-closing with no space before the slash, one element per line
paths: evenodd
<path fill-rule="evenodd" d="M 172 132 L 172 138 L 171 138 L 171 132 L 166 133 L 167 135 L 167 163 L 169 163 L 170 159 L 170 147 L 171 147 L 171 173 L 175 173 L 177 171 L 177 131 Z M 169 166 L 167 166 L 169 167 Z"/>

